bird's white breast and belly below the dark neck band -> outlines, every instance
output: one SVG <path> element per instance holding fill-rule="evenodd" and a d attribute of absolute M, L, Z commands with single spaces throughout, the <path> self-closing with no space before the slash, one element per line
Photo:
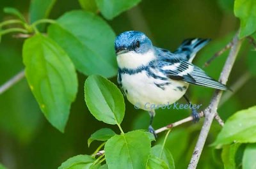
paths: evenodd
<path fill-rule="evenodd" d="M 133 105 L 141 105 L 141 109 L 147 110 L 144 105 L 147 103 L 160 105 L 172 104 L 180 99 L 188 89 L 188 84 L 177 80 L 168 80 L 169 85 L 164 85 L 164 89 L 156 84 L 166 82 L 166 80 L 148 77 L 146 71 L 141 71 L 133 75 L 122 74 L 122 88 L 127 90 L 127 99 Z M 179 89 L 182 87 L 182 91 Z"/>

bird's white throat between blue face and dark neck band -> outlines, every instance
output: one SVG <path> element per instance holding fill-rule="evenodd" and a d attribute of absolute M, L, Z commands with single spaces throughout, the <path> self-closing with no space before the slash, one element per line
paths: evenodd
<path fill-rule="evenodd" d="M 145 54 L 138 54 L 129 51 L 125 54 L 119 54 L 116 57 L 119 68 L 135 69 L 139 66 L 147 66 L 150 61 L 156 59 L 153 50 L 148 50 Z"/>

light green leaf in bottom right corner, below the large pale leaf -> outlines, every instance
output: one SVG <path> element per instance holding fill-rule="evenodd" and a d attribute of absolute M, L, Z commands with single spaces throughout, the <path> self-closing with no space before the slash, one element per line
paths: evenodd
<path fill-rule="evenodd" d="M 256 168 L 256 143 L 248 144 L 244 150 L 243 169 Z"/>

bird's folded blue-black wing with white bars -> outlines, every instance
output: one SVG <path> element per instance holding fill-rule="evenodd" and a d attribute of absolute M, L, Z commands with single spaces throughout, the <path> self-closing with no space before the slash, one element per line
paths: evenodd
<path fill-rule="evenodd" d="M 227 86 L 209 77 L 204 70 L 188 61 L 168 62 L 159 68 L 168 78 L 182 80 L 189 84 L 202 85 L 214 89 L 227 90 Z"/>

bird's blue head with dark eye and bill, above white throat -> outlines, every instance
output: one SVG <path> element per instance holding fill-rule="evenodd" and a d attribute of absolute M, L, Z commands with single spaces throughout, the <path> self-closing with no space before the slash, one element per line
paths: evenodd
<path fill-rule="evenodd" d="M 115 40 L 116 54 L 125 54 L 130 51 L 143 54 L 152 47 L 150 39 L 140 31 L 125 31 L 116 36 Z"/>

